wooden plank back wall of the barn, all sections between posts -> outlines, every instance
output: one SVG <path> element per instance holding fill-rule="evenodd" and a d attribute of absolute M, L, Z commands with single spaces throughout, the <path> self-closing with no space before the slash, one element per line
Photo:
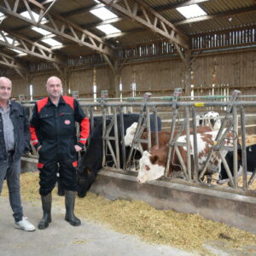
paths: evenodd
<path fill-rule="evenodd" d="M 242 94 L 256 94 L 256 51 L 244 51 L 215 55 L 201 55 L 195 58 L 192 65 L 192 84 L 195 88 L 203 88 L 197 93 L 208 95 L 207 88 L 227 87 L 230 90 L 241 89 Z M 44 84 L 52 73 L 37 73 L 32 75 L 31 83 L 34 85 L 34 95 L 45 96 Z M 28 84 L 19 76 L 10 78 L 14 80 L 13 96 L 28 95 Z M 64 78 L 62 78 L 63 80 Z M 80 96 L 92 96 L 93 68 L 70 70 L 68 73 L 68 86 L 71 90 L 79 90 Z M 172 90 L 177 87 L 184 88 L 185 67 L 179 58 L 162 61 L 148 61 L 127 64 L 121 71 L 123 96 L 131 96 L 131 83 L 137 84 L 137 96 L 142 96 L 145 91 L 151 90 L 153 96 L 172 96 Z M 96 68 L 97 91 L 109 90 L 113 96 L 114 78 L 109 67 Z M 216 90 L 216 94 L 221 94 Z"/>

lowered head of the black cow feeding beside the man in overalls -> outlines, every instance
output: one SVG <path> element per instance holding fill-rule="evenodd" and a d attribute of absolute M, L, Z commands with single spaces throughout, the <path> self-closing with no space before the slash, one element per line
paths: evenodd
<path fill-rule="evenodd" d="M 78 195 L 79 197 L 84 197 L 91 184 L 95 180 L 95 174 L 88 166 L 79 166 L 78 170 Z"/>

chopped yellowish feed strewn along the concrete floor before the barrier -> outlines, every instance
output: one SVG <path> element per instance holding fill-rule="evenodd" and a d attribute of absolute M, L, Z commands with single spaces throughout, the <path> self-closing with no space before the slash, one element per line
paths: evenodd
<path fill-rule="evenodd" d="M 24 173 L 20 182 L 23 201 L 40 204 L 38 173 Z M 7 195 L 6 185 L 3 195 Z M 56 191 L 53 193 L 53 204 L 64 207 L 64 199 L 57 196 Z M 203 243 L 208 241 L 218 241 L 236 250 L 256 243 L 256 236 L 246 231 L 207 220 L 198 214 L 156 210 L 142 201 L 108 201 L 101 195 L 88 193 L 85 198 L 76 201 L 76 213 L 81 218 L 108 224 L 113 230 L 139 236 L 145 241 L 202 255 L 211 255 L 203 247 Z"/>

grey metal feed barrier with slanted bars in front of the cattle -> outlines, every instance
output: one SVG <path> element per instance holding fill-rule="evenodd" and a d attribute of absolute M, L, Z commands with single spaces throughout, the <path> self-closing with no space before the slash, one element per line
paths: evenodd
<path fill-rule="evenodd" d="M 212 184 L 209 183 L 209 180 L 212 180 L 211 177 L 209 177 L 207 180 L 204 178 L 204 174 L 206 173 L 207 166 L 209 164 L 209 161 L 211 159 L 211 156 L 213 152 L 218 152 L 220 154 L 221 159 L 223 160 L 224 167 L 227 171 L 228 176 L 230 177 L 230 186 L 231 188 L 226 188 L 229 191 L 247 191 L 248 185 L 253 183 L 253 177 L 255 176 L 255 173 L 253 173 L 253 176 L 250 178 L 249 183 L 247 182 L 247 155 L 246 155 L 246 109 L 247 108 L 255 108 L 256 102 L 254 101 L 239 101 L 239 91 L 235 90 L 231 97 L 229 97 L 229 102 L 218 102 L 218 101 L 204 101 L 204 102 L 185 102 L 181 101 L 183 98 L 181 95 L 181 90 L 177 89 L 174 92 L 174 96 L 170 96 L 166 98 L 167 102 L 150 102 L 152 98 L 150 98 L 149 94 L 146 94 L 143 98 L 140 98 L 140 100 L 143 100 L 143 102 L 108 102 L 108 98 L 102 98 L 101 102 L 93 102 L 93 103 L 84 103 L 81 102 L 82 108 L 84 108 L 85 113 L 87 113 L 87 116 L 90 118 L 90 127 L 91 129 L 94 129 L 94 121 L 93 118 L 96 115 L 102 114 L 102 140 L 103 140 L 103 161 L 102 166 L 113 168 L 115 170 L 123 169 L 126 172 L 130 171 L 130 163 L 132 160 L 132 154 L 134 152 L 134 148 L 141 148 L 141 143 L 148 143 L 148 148 L 151 147 L 151 137 L 150 137 L 150 121 L 149 121 L 149 114 L 154 113 L 154 125 L 155 127 L 158 127 L 157 125 L 157 113 L 158 110 L 161 108 L 164 108 L 170 110 L 169 114 L 172 119 L 172 125 L 171 125 L 171 138 L 169 142 L 169 151 L 168 151 L 168 160 L 166 164 L 166 170 L 168 170 L 168 166 L 170 165 L 170 154 L 172 151 L 172 148 L 174 148 L 177 157 L 180 161 L 180 166 L 183 172 L 183 178 L 177 179 L 177 178 L 170 178 L 168 177 L 166 173 L 166 177 L 168 177 L 169 181 L 172 182 L 182 182 L 187 183 L 191 185 L 197 185 L 197 186 L 204 186 L 209 189 L 224 189 L 221 185 Z M 204 99 L 202 96 L 201 98 Z M 214 96 L 215 100 L 218 99 L 218 96 Z M 206 99 L 206 98 L 205 98 Z M 211 99 L 209 96 L 207 96 L 207 99 Z M 187 99 L 186 99 L 187 100 Z M 32 108 L 32 104 L 25 104 L 26 107 Z M 124 143 L 121 143 L 121 148 L 119 148 L 119 134 L 118 134 L 118 122 L 117 122 L 117 115 L 119 114 L 119 122 L 120 122 L 120 137 L 121 141 L 124 142 L 125 137 L 125 130 L 124 130 L 124 109 L 127 108 L 137 108 L 139 109 L 139 120 L 136 130 L 136 136 L 132 142 L 131 150 L 129 154 L 126 156 L 125 153 L 125 145 Z M 210 151 L 210 154 L 207 157 L 207 161 L 205 163 L 205 166 L 199 170 L 198 166 L 198 160 L 197 160 L 197 140 L 196 140 L 196 114 L 198 112 L 198 109 L 205 109 L 205 108 L 224 108 L 226 109 L 224 119 L 222 120 L 222 125 L 220 130 L 218 131 L 218 135 L 215 139 L 215 143 L 212 146 L 212 149 Z M 97 109 L 97 111 L 96 111 Z M 109 116 L 107 115 L 109 114 Z M 167 112 L 166 112 L 167 113 Z M 191 118 L 189 117 L 189 114 L 191 113 Z M 240 114 L 239 114 L 240 113 Z M 183 114 L 183 119 L 180 119 L 180 116 Z M 238 117 L 241 119 L 241 149 L 242 149 L 242 187 L 238 187 L 238 178 L 237 178 L 237 134 L 238 134 Z M 107 121 L 108 120 L 108 121 Z M 190 144 L 189 144 L 189 128 L 193 127 L 193 136 L 194 136 L 194 157 L 193 159 L 193 168 L 192 168 L 192 161 L 190 158 Z M 113 128 L 113 129 L 112 129 Z M 113 136 L 110 136 L 110 131 L 113 130 Z M 158 144 L 158 133 L 156 129 L 156 144 Z M 79 131 L 79 129 L 78 129 Z M 146 131 L 148 134 L 148 140 L 141 140 L 141 134 Z M 174 134 L 174 131 L 177 131 L 176 134 Z M 233 148 L 226 148 L 224 147 L 224 139 L 226 138 L 226 134 L 232 131 L 234 133 L 234 147 Z M 185 135 L 187 137 L 186 144 L 183 143 L 177 143 L 177 137 L 182 133 L 185 132 Z M 114 144 L 114 148 L 113 148 Z M 187 165 L 184 164 L 183 159 L 181 155 L 179 154 L 178 147 L 185 146 L 188 149 L 187 154 Z M 234 151 L 234 176 L 232 177 L 229 166 L 227 165 L 224 155 L 222 154 L 223 150 L 229 150 Z M 112 166 L 108 165 L 108 161 L 106 160 L 106 156 L 108 154 L 111 155 L 113 161 Z M 36 154 L 33 154 L 32 157 L 37 157 Z M 122 162 L 124 163 L 123 166 L 120 166 L 120 158 L 122 158 Z M 133 172 L 134 173 L 134 172 Z"/>

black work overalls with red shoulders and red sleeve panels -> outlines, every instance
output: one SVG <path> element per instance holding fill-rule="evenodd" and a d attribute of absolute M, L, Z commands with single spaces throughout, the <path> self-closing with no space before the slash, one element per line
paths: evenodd
<path fill-rule="evenodd" d="M 79 142 L 75 123 L 80 124 Z M 40 195 L 48 195 L 55 188 L 56 172 L 64 189 L 76 190 L 78 154 L 74 145 L 84 147 L 90 133 L 89 120 L 79 102 L 61 96 L 58 105 L 49 97 L 38 101 L 33 109 L 30 131 L 32 144 L 39 149 Z"/>

